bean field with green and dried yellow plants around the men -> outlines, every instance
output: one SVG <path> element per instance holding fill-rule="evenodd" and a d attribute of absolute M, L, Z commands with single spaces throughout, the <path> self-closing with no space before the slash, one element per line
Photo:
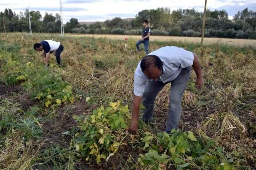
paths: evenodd
<path fill-rule="evenodd" d="M 192 71 L 180 127 L 163 132 L 170 85 L 158 95 L 154 121 L 129 134 L 137 39 L 54 36 L 62 65 L 46 69 L 33 44 L 50 35 L 0 34 L 0 169 L 256 168 L 256 47 L 152 41 L 150 51 L 195 52 L 205 84 Z M 232 40 L 235 41 L 235 40 Z M 241 45 L 241 44 L 240 44 Z M 143 109 L 143 106 L 141 106 Z"/>

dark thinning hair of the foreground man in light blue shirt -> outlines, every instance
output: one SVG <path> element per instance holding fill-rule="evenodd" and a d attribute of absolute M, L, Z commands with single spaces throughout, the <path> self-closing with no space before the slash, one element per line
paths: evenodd
<path fill-rule="evenodd" d="M 162 69 L 163 62 L 156 55 L 147 55 L 140 61 L 140 68 L 144 72 L 144 70 L 152 67 L 157 67 L 158 69 Z"/>

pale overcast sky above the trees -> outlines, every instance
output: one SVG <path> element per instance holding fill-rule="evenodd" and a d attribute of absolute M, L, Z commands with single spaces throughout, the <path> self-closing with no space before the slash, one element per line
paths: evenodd
<path fill-rule="evenodd" d="M 60 14 L 60 0 L 0 0 L 0 11 L 10 8 L 19 14 L 30 6 L 30 10 Z M 114 17 L 134 18 L 145 9 L 168 7 L 171 10 L 178 8 L 195 8 L 204 10 L 204 0 L 62 0 L 63 22 L 70 18 L 81 21 L 104 21 Z M 237 11 L 247 8 L 256 11 L 256 0 L 208 0 L 207 8 L 211 10 L 226 10 L 230 19 Z"/>

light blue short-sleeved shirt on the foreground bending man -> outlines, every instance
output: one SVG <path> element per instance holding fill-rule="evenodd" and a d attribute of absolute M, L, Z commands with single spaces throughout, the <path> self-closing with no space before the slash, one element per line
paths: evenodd
<path fill-rule="evenodd" d="M 192 52 L 174 46 L 159 48 L 148 55 L 156 55 L 164 61 L 163 73 L 159 77 L 163 83 L 176 79 L 183 68 L 192 66 L 194 62 L 194 54 Z M 149 81 L 148 77 L 140 68 L 140 62 L 138 63 L 134 73 L 134 95 L 136 96 L 143 95 L 146 82 Z"/>

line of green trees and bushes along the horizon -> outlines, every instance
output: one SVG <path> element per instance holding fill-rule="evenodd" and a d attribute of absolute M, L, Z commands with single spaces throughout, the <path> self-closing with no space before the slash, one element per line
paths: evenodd
<path fill-rule="evenodd" d="M 128 34 L 141 35 L 142 21 L 148 20 L 151 35 L 201 36 L 203 12 L 193 9 L 157 8 L 142 10 L 132 20 L 119 17 L 90 25 L 80 24 L 71 18 L 64 26 L 65 33 L 80 34 Z M 60 15 L 30 11 L 32 32 L 60 32 Z M 0 32 L 29 32 L 28 9 L 16 14 L 11 9 L 0 12 Z M 245 8 L 238 11 L 234 20 L 228 19 L 225 10 L 207 10 L 205 37 L 256 39 L 256 12 Z"/>

